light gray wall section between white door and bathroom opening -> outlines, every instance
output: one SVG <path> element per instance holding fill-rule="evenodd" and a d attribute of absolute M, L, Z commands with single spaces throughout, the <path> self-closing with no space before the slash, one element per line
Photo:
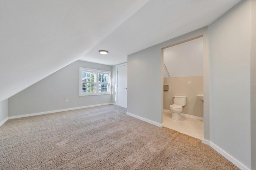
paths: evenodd
<path fill-rule="evenodd" d="M 162 124 L 161 47 L 128 55 L 127 112 Z"/>

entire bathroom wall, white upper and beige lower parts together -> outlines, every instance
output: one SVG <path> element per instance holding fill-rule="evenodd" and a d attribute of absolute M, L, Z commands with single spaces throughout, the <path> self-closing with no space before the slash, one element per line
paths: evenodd
<path fill-rule="evenodd" d="M 204 94 L 203 37 L 164 49 L 164 64 L 170 74 L 164 78 L 164 85 L 169 85 L 164 91 L 164 109 L 174 104 L 174 95 L 187 96 L 182 113 L 204 117 L 204 103 L 196 97 Z"/>

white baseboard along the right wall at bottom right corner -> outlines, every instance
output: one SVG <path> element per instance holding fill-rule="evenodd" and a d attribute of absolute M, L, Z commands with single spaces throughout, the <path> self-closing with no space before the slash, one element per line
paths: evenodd
<path fill-rule="evenodd" d="M 212 147 L 214 150 L 216 150 L 217 152 L 219 152 L 222 156 L 224 156 L 225 158 L 227 158 L 230 162 L 232 162 L 234 165 L 236 165 L 238 168 L 240 168 L 241 170 L 250 170 L 249 168 L 247 168 L 244 164 L 242 164 L 241 162 L 239 162 L 238 160 L 236 160 L 233 156 L 231 156 L 230 154 L 228 154 L 227 152 L 225 152 L 224 150 L 220 149 L 220 147 L 218 147 L 217 145 L 215 145 L 214 143 L 210 142 L 210 147 Z"/>

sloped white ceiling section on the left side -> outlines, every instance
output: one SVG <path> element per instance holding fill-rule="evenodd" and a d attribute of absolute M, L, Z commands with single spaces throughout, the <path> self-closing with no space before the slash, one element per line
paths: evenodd
<path fill-rule="evenodd" d="M 0 1 L 0 101 L 78 60 L 147 1 Z"/>

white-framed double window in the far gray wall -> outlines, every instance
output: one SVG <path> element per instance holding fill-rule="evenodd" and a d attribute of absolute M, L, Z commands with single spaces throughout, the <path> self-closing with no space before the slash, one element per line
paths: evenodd
<path fill-rule="evenodd" d="M 111 72 L 80 67 L 79 96 L 111 94 Z"/>

